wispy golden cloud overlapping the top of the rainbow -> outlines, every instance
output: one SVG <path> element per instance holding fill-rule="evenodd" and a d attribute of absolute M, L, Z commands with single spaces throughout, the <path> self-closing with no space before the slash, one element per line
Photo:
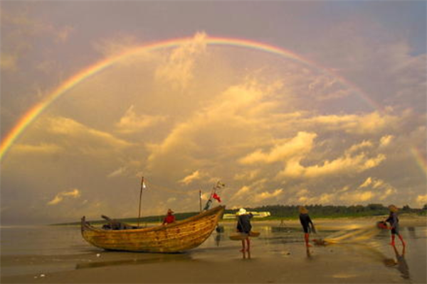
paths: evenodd
<path fill-rule="evenodd" d="M 156 71 L 156 79 L 171 83 L 176 89 L 185 89 L 193 79 L 196 56 L 206 50 L 206 33 L 196 33 L 188 43 L 176 48 L 167 62 Z"/>

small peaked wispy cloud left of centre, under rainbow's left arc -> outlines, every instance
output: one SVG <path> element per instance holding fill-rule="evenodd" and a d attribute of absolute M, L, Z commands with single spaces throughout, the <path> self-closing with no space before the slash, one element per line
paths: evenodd
<path fill-rule="evenodd" d="M 137 115 L 135 113 L 135 106 L 132 105 L 127 109 L 125 115 L 120 118 L 120 121 L 115 124 L 115 127 L 119 133 L 135 133 L 144 131 L 144 129 L 159 124 L 159 122 L 165 119 L 165 116 Z"/>

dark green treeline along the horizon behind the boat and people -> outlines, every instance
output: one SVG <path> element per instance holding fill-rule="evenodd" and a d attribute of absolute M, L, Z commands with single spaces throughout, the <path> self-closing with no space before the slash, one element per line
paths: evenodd
<path fill-rule="evenodd" d="M 367 217 L 367 216 L 381 216 L 389 214 L 389 209 L 383 204 L 368 204 L 363 205 L 352 205 L 352 206 L 337 206 L 337 205 L 320 205 L 312 204 L 305 205 L 305 208 L 308 209 L 309 214 L 312 218 L 337 218 L 337 217 Z M 245 208 L 247 211 L 255 212 L 270 212 L 271 216 L 263 218 L 265 219 L 297 219 L 299 216 L 298 206 L 297 205 L 266 205 L 262 207 L 253 207 Z M 238 209 L 226 209 L 226 214 L 235 214 Z M 426 216 L 427 213 L 427 204 L 421 209 L 411 208 L 408 205 L 405 205 L 399 210 L 399 214 L 419 214 Z M 199 214 L 199 212 L 186 212 L 186 213 L 175 213 L 176 220 L 182 220 Z M 113 216 L 110 216 L 114 218 Z M 142 217 L 139 219 L 139 224 L 144 225 L 144 223 L 152 223 L 163 221 L 164 215 Z M 137 223 L 138 218 L 125 218 L 117 219 L 120 222 L 125 223 Z M 90 222 L 91 224 L 105 224 L 105 220 L 97 220 Z M 58 224 L 58 225 L 75 225 L 80 224 L 79 222 Z"/>

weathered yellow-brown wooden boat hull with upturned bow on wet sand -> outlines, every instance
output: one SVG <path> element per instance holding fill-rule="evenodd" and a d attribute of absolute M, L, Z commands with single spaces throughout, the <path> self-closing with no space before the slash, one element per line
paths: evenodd
<path fill-rule="evenodd" d="M 225 206 L 172 224 L 144 229 L 97 229 L 82 218 L 82 236 L 93 246 L 113 251 L 176 253 L 200 246 L 214 231 Z"/>

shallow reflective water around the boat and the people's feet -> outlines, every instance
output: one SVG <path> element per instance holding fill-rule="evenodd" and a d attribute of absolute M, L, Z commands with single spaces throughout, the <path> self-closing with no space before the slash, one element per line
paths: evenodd
<path fill-rule="evenodd" d="M 1 227 L 0 243 L 1 275 L 31 274 L 37 277 L 57 271 L 101 266 L 142 265 L 164 261 L 223 261 L 248 257 L 239 252 L 240 241 L 229 239 L 235 232 L 234 224 L 221 225 L 224 231 L 214 231 L 198 248 L 172 255 L 103 251 L 83 240 L 79 226 L 4 226 Z M 379 275 L 398 279 L 398 283 L 427 283 L 426 226 L 401 228 L 401 234 L 407 243 L 405 251 L 399 239 L 396 239 L 396 251 L 389 246 L 389 231 L 380 231 L 376 236 L 363 241 L 349 239 L 330 246 L 313 245 L 307 250 L 299 227 L 285 228 L 254 222 L 253 230 L 260 232 L 260 236 L 251 241 L 251 257 L 258 261 L 266 258 L 278 261 L 292 258 L 295 261 L 305 261 L 305 266 L 313 266 L 315 269 L 316 261 L 351 258 L 353 264 L 348 271 L 333 271 L 334 268 L 331 267 L 328 268 L 332 270 L 329 273 L 337 278 L 342 277 L 344 282 L 349 275 L 378 271 Z M 311 239 L 325 239 L 334 235 L 337 235 L 336 229 L 320 230 L 317 234 L 312 234 Z"/>

